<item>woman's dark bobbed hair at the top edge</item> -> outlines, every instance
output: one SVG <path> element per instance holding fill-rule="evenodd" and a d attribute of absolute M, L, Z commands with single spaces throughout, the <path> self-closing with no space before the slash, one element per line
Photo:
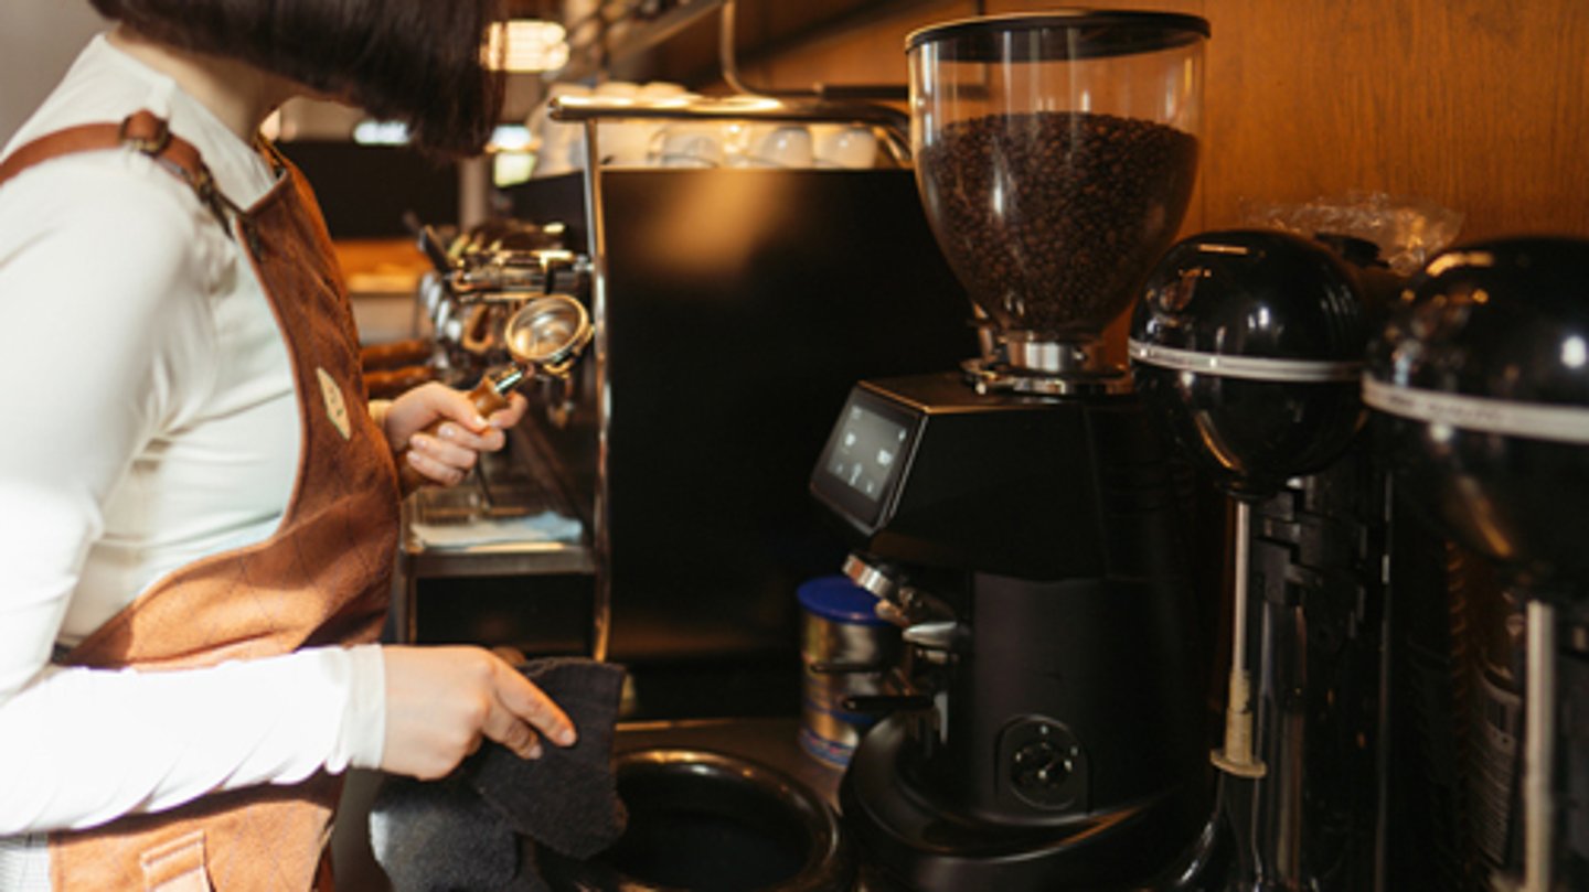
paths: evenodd
<path fill-rule="evenodd" d="M 502 108 L 485 65 L 501 0 L 91 0 L 183 49 L 238 59 L 402 121 L 421 148 L 478 151 Z"/>

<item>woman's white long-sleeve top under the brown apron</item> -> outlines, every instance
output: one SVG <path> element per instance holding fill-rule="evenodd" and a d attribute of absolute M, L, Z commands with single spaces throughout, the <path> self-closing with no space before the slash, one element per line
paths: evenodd
<path fill-rule="evenodd" d="M 6 154 L 140 108 L 235 203 L 272 187 L 248 143 L 103 35 Z M 49 665 L 170 570 L 269 536 L 291 494 L 286 344 L 184 183 L 114 149 L 0 187 L 0 890 L 40 881 L 43 832 L 377 765 L 373 646 L 164 673 Z"/>

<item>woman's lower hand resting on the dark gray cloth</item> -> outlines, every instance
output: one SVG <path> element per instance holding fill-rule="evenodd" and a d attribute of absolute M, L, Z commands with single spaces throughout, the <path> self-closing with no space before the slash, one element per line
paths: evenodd
<path fill-rule="evenodd" d="M 485 738 L 523 759 L 540 738 L 575 740 L 574 722 L 539 687 L 481 648 L 381 648 L 386 665 L 386 748 L 381 770 L 443 778 Z"/>

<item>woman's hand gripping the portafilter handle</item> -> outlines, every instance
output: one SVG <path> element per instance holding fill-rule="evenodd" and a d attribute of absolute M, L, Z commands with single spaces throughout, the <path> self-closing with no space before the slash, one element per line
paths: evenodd
<path fill-rule="evenodd" d="M 475 467 L 480 452 L 494 452 L 507 443 L 502 432 L 518 424 L 528 406 L 521 394 L 510 394 L 505 409 L 480 417 L 466 394 L 432 381 L 392 400 L 381 429 L 399 460 L 426 483 L 454 486 Z M 443 419 L 442 427 L 426 433 L 424 427 L 437 419 Z"/>

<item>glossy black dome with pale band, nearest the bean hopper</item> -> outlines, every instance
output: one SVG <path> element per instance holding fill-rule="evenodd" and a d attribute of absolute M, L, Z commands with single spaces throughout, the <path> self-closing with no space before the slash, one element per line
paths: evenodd
<path fill-rule="evenodd" d="M 1131 317 L 1136 389 L 1236 497 L 1335 462 L 1363 421 L 1363 289 L 1317 241 L 1212 232 L 1173 246 Z"/>

